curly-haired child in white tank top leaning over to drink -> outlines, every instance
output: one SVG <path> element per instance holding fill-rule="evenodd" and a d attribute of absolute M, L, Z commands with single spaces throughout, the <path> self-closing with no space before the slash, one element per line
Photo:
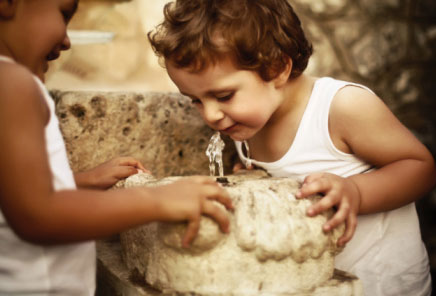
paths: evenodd
<path fill-rule="evenodd" d="M 301 179 L 298 197 L 322 194 L 308 215 L 337 209 L 324 225 L 346 223 L 336 266 L 366 295 L 429 295 L 414 205 L 435 184 L 426 147 L 368 88 L 303 73 L 312 47 L 287 1 L 179 0 L 164 14 L 149 40 L 205 122 L 243 162 Z"/>

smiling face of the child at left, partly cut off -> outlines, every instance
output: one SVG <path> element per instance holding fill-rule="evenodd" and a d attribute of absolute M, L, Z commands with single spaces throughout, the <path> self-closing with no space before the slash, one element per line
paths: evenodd
<path fill-rule="evenodd" d="M 10 38 L 12 57 L 41 80 L 48 62 L 70 48 L 66 27 L 78 0 L 18 0 Z"/>

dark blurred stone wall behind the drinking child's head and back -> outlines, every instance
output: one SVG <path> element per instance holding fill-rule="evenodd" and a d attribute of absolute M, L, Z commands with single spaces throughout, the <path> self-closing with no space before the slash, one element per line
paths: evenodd
<path fill-rule="evenodd" d="M 309 71 L 372 88 L 436 152 L 436 2 L 293 0 L 312 40 Z"/>

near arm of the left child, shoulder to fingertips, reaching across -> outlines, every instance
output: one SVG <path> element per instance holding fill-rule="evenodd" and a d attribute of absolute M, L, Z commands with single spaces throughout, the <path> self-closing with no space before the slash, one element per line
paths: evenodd
<path fill-rule="evenodd" d="M 202 214 L 228 230 L 227 215 L 214 200 L 231 208 L 230 199 L 209 178 L 155 188 L 55 192 L 44 141 L 48 118 L 43 98 L 27 70 L 2 69 L 0 207 L 21 238 L 64 243 L 108 236 L 153 220 L 187 221 L 187 245 Z"/>

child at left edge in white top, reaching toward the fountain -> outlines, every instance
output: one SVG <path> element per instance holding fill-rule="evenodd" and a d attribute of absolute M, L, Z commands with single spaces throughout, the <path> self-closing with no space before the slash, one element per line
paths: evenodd
<path fill-rule="evenodd" d="M 187 221 L 183 244 L 202 214 L 228 231 L 226 192 L 209 178 L 155 188 L 77 190 L 42 81 L 48 62 L 70 46 L 76 0 L 0 0 L 0 294 L 94 295 L 93 239 L 153 220 Z M 78 185 L 107 187 L 143 169 L 118 159 L 77 174 Z M 92 181 L 100 176 L 97 182 Z"/>

